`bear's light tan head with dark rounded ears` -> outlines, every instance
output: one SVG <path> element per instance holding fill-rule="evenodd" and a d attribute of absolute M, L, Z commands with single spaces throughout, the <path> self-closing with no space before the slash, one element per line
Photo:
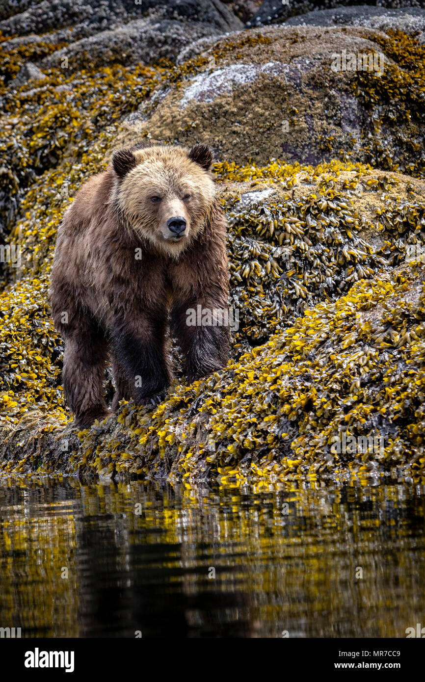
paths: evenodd
<path fill-rule="evenodd" d="M 128 227 L 177 258 L 201 233 L 216 196 L 211 149 L 157 145 L 119 149 L 113 201 Z"/>

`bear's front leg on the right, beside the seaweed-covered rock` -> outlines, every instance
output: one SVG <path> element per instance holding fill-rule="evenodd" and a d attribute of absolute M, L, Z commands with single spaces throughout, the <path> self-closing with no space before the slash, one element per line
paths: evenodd
<path fill-rule="evenodd" d="M 205 299 L 177 303 L 171 310 L 171 324 L 186 355 L 189 381 L 226 365 L 230 351 L 228 308 L 217 308 Z"/>

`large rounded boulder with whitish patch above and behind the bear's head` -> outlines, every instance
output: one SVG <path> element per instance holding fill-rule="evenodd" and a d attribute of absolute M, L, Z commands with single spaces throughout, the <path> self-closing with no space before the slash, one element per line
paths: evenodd
<path fill-rule="evenodd" d="M 194 46 L 195 53 L 207 48 L 194 65 L 181 65 L 180 84 L 167 86 L 156 106 L 141 107 L 138 135 L 186 145 L 208 140 L 219 160 L 239 164 L 336 157 L 425 168 L 425 109 L 415 104 L 423 100 L 422 80 L 400 91 L 410 76 L 398 38 L 357 27 L 284 26 L 207 40 L 213 44 Z M 410 48 L 423 65 L 421 46 Z M 372 51 L 383 74 L 334 71 L 343 50 L 356 60 Z"/>

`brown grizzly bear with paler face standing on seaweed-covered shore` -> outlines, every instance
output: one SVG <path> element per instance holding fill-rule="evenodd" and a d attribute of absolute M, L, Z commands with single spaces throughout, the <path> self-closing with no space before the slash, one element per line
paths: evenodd
<path fill-rule="evenodd" d="M 120 149 L 65 212 L 49 297 L 76 426 L 111 414 L 103 391 L 108 356 L 113 411 L 122 398 L 164 397 L 173 378 L 169 338 L 186 357 L 189 381 L 226 364 L 226 219 L 212 162 L 204 144 Z M 222 312 L 224 324 L 188 324 L 188 309 L 197 306 Z"/>

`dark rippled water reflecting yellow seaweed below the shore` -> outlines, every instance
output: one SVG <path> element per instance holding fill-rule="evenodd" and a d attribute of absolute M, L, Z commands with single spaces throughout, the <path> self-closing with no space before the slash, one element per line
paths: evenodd
<path fill-rule="evenodd" d="M 405 637 L 425 625 L 424 516 L 425 487 L 405 484 L 3 482 L 0 627 L 23 637 Z"/>

